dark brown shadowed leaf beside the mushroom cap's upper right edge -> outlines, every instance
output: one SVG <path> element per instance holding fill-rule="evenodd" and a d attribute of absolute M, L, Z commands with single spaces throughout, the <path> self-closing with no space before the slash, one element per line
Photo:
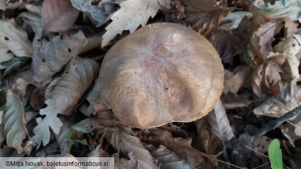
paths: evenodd
<path fill-rule="evenodd" d="M 234 55 L 244 50 L 244 45 L 249 41 L 251 34 L 251 22 L 246 16 L 242 16 L 213 30 L 208 40 L 222 61 L 228 63 L 233 60 Z"/>

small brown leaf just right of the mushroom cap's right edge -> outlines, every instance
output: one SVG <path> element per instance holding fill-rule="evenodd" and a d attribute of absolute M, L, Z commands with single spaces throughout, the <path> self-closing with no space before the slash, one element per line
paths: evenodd
<path fill-rule="evenodd" d="M 251 88 L 250 86 L 250 74 L 252 68 L 250 66 L 239 65 L 233 72 L 224 70 L 224 87 L 223 92 L 237 93 L 241 88 Z"/>

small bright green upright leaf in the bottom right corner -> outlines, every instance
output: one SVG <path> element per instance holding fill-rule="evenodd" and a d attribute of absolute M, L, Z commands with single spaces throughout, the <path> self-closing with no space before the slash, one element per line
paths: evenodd
<path fill-rule="evenodd" d="M 272 169 L 283 169 L 282 152 L 280 149 L 280 142 L 278 139 L 274 139 L 271 142 L 268 152 Z"/>

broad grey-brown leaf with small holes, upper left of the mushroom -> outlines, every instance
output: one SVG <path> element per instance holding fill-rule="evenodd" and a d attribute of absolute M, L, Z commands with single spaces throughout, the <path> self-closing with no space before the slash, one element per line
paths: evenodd
<path fill-rule="evenodd" d="M 82 31 L 72 35 L 55 36 L 50 42 L 35 49 L 32 58 L 33 76 L 36 82 L 51 78 L 74 56 L 100 46 L 102 33 L 86 37 Z"/>

